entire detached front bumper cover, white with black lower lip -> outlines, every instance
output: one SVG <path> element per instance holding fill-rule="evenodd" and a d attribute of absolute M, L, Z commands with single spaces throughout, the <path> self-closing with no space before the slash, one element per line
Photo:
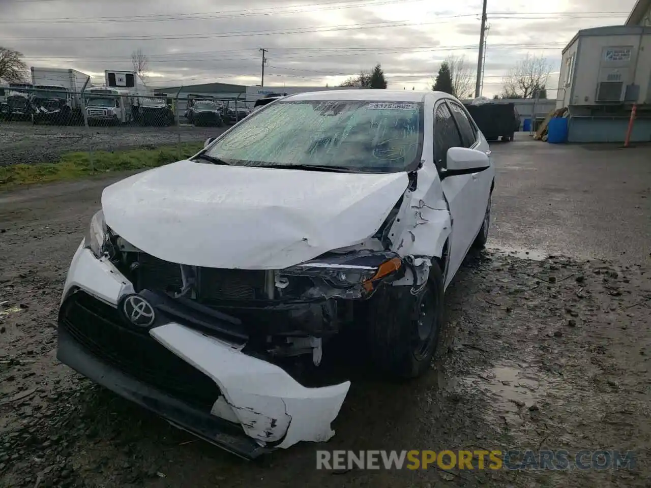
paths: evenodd
<path fill-rule="evenodd" d="M 124 295 L 133 293 L 130 282 L 113 264 L 105 258 L 98 260 L 83 245 L 72 260 L 63 296 L 75 290 L 113 307 Z M 63 306 L 64 301 L 62 310 Z M 306 388 L 279 366 L 242 353 L 242 344 L 219 340 L 174 322 L 153 327 L 148 331 L 150 340 L 217 385 L 218 398 L 210 412 L 202 411 L 135 379 L 95 355 L 66 327 L 60 325 L 59 329 L 59 360 L 174 425 L 243 457 L 255 457 L 272 446 L 287 448 L 299 441 L 329 440 L 334 435 L 330 424 L 350 388 L 348 381 Z"/>

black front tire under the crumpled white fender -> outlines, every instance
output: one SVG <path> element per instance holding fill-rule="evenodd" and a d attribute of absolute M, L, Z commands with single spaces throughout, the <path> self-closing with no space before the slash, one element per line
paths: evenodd
<path fill-rule="evenodd" d="M 396 379 L 415 378 L 429 370 L 443 327 L 443 273 L 436 261 L 420 293 L 413 295 L 411 288 L 384 286 L 368 309 L 374 366 Z"/>

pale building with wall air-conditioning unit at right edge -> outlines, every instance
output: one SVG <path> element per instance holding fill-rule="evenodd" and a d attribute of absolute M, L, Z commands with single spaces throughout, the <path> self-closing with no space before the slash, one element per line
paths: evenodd
<path fill-rule="evenodd" d="M 577 32 L 562 51 L 556 107 L 568 108 L 568 142 L 651 141 L 651 0 L 625 25 Z"/>

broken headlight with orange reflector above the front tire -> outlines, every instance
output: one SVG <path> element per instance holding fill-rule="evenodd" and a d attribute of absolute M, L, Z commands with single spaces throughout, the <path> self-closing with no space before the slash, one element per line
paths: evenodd
<path fill-rule="evenodd" d="M 337 288 L 363 286 L 372 291 L 376 282 L 401 269 L 402 260 L 388 252 L 331 254 L 283 269 L 280 274 L 322 278 Z"/>

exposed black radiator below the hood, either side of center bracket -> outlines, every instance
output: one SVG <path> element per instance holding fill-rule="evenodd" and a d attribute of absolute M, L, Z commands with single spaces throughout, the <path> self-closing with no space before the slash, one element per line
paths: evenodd
<path fill-rule="evenodd" d="M 180 265 L 138 255 L 137 290 L 169 291 L 183 286 Z M 197 299 L 202 303 L 264 299 L 264 271 L 201 267 Z"/>

